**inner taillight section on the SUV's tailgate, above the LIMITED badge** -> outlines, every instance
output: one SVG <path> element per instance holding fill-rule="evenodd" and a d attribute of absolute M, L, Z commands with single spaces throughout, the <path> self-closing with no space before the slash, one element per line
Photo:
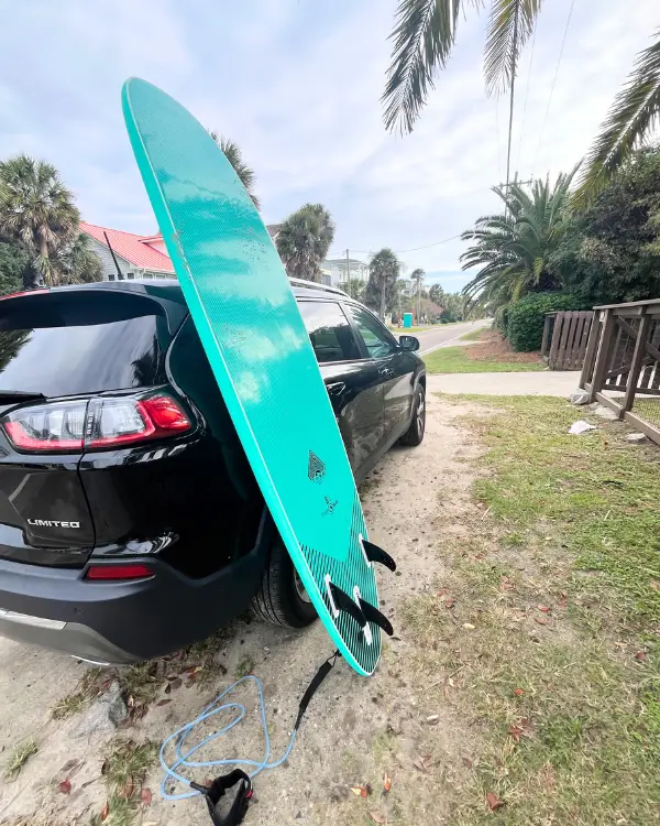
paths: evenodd
<path fill-rule="evenodd" d="M 2 420 L 7 435 L 22 450 L 81 450 L 87 401 L 19 407 Z"/>

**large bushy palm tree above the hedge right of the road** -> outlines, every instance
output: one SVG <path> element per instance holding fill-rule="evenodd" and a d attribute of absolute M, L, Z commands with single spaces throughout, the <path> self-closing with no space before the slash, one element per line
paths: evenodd
<path fill-rule="evenodd" d="M 514 183 L 496 186 L 505 211 L 479 218 L 461 238 L 473 244 L 461 256 L 463 270 L 482 269 L 463 287 L 473 306 L 496 313 L 521 295 L 553 290 L 562 284 L 549 271 L 548 261 L 570 220 L 570 186 L 575 170 L 560 174 L 553 186 L 537 178 L 528 192 Z"/>

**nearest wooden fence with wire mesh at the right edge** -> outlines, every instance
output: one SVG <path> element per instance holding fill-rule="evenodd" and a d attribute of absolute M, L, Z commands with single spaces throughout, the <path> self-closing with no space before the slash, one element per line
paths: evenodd
<path fill-rule="evenodd" d="M 660 444 L 660 298 L 595 311 L 580 387 Z"/>

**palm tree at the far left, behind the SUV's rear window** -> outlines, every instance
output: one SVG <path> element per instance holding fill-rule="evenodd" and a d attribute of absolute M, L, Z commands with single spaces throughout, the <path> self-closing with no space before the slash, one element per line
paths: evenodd
<path fill-rule="evenodd" d="M 57 283 L 58 250 L 78 233 L 80 213 L 56 169 L 28 155 L 0 162 L 0 232 L 16 239 L 47 284 Z"/>

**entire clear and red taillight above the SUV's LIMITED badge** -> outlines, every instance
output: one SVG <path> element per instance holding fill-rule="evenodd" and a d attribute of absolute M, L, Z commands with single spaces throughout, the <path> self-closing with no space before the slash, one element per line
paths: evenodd
<path fill-rule="evenodd" d="M 182 406 L 165 393 L 35 404 L 0 422 L 11 442 L 31 453 L 121 447 L 190 430 Z"/>

